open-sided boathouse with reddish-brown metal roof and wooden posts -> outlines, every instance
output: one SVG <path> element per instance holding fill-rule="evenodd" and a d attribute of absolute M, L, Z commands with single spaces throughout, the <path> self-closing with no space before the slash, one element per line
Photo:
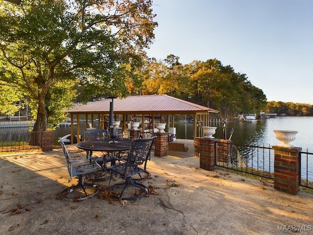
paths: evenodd
<path fill-rule="evenodd" d="M 73 143 L 74 135 L 79 136 L 80 129 L 91 127 L 89 121 L 93 124 L 94 120 L 97 120 L 99 128 L 101 127 L 100 129 L 107 128 L 105 122 L 107 122 L 110 116 L 111 105 L 113 106 L 113 118 L 115 121 L 121 121 L 123 130 L 129 128 L 127 123 L 138 118 L 143 120 L 141 131 L 147 131 L 147 129 L 145 130 L 144 120 L 149 118 L 150 126 L 152 127 L 155 126 L 155 123 L 166 123 L 165 131 L 168 132 L 169 127 L 174 127 L 175 115 L 185 115 L 185 117 L 188 115 L 193 119 L 194 137 L 197 137 L 197 121 L 201 120 L 203 121 L 203 126 L 208 126 L 209 114 L 218 113 L 217 110 L 166 94 L 137 95 L 129 96 L 127 98 L 107 98 L 90 102 L 88 104 L 72 106 L 68 110 L 71 119 L 71 143 Z M 74 133 L 73 128 L 75 119 L 77 120 L 77 133 Z M 79 120 L 86 120 L 86 126 L 80 126 Z"/>

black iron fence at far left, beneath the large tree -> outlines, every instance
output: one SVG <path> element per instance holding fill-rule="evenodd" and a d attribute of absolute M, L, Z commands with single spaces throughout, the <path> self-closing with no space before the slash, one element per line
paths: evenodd
<path fill-rule="evenodd" d="M 0 152 L 23 151 L 31 149 L 40 149 L 41 146 L 35 144 L 35 138 L 41 139 L 41 132 L 30 132 L 29 130 L 21 130 L 11 128 L 10 131 L 0 130 Z"/>

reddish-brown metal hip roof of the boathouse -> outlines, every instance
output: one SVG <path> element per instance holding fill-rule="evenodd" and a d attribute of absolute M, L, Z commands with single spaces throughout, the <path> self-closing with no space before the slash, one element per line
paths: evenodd
<path fill-rule="evenodd" d="M 105 99 L 85 105 L 73 106 L 68 110 L 71 114 L 109 114 L 110 102 Z M 208 114 L 218 113 L 198 104 L 178 99 L 166 94 L 137 95 L 127 98 L 113 99 L 114 114 Z"/>

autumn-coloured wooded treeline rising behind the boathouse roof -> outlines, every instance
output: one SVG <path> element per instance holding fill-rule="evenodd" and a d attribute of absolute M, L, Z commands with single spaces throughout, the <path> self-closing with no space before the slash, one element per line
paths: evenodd
<path fill-rule="evenodd" d="M 220 117 L 265 110 L 267 98 L 246 74 L 235 72 L 217 59 L 182 65 L 179 57 L 152 58 L 138 71 L 139 94 L 168 94 L 220 111 Z"/>

